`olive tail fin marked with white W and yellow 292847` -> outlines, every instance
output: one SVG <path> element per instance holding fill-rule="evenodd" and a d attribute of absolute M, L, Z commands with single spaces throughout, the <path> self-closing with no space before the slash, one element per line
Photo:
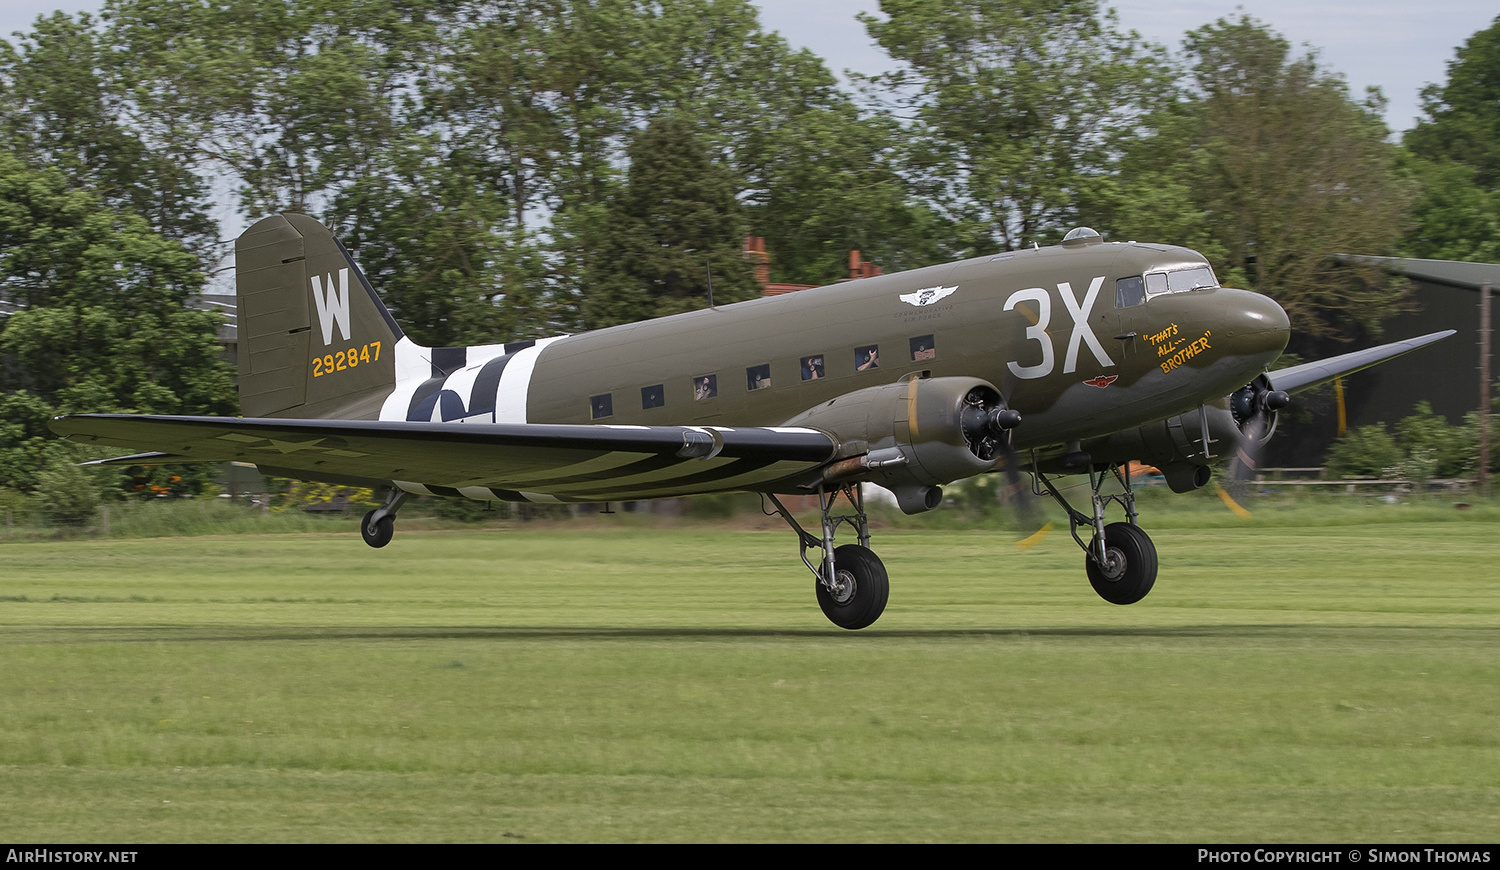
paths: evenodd
<path fill-rule="evenodd" d="M 276 214 L 234 243 L 240 412 L 375 420 L 404 333 L 327 226 Z"/>

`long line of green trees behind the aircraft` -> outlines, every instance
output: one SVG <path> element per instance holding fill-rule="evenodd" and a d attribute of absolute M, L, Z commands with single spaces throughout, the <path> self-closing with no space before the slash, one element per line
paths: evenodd
<path fill-rule="evenodd" d="M 747 234 L 772 280 L 826 284 L 850 249 L 896 272 L 1092 225 L 1196 248 L 1317 336 L 1402 296 L 1328 254 L 1500 260 L 1500 18 L 1394 142 L 1378 94 L 1248 16 L 1168 51 L 1095 0 L 882 10 L 891 72 L 848 88 L 746 0 L 39 18 L 0 42 L 0 484 L 36 486 L 57 412 L 236 412 L 188 304 L 225 210 L 318 218 L 428 345 L 688 310 L 710 270 L 748 298 Z"/>

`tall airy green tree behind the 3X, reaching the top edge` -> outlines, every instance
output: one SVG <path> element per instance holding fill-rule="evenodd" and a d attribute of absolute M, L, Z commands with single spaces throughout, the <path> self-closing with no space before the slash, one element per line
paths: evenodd
<path fill-rule="evenodd" d="M 972 252 L 1059 238 L 1106 184 L 1166 68 L 1094 0 L 886 0 L 898 62 L 867 92 L 902 118 L 914 188 Z"/>

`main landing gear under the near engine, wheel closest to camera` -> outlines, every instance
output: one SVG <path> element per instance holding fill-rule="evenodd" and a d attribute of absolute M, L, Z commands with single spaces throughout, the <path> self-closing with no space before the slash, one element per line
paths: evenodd
<path fill-rule="evenodd" d="M 840 494 L 854 513 L 831 513 Z M 840 628 L 864 628 L 879 620 L 891 594 L 891 580 L 885 566 L 870 549 L 870 524 L 864 516 L 864 490 L 860 484 L 844 484 L 834 492 L 818 490 L 822 538 L 798 525 L 792 512 L 786 510 L 774 495 L 766 494 L 766 498 L 776 506 L 776 513 L 796 532 L 802 564 L 818 579 L 813 588 L 818 592 L 818 606 L 824 609 L 828 621 Z M 834 548 L 834 532 L 840 524 L 849 524 L 860 543 Z M 818 552 L 818 564 L 807 556 L 808 550 Z"/>

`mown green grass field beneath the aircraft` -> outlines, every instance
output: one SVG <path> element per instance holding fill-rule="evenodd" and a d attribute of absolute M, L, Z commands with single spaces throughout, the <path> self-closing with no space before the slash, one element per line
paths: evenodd
<path fill-rule="evenodd" d="M 1065 534 L 891 530 L 858 633 L 784 530 L 6 543 L 0 836 L 1492 842 L 1455 513 L 1148 524 L 1131 608 Z"/>

